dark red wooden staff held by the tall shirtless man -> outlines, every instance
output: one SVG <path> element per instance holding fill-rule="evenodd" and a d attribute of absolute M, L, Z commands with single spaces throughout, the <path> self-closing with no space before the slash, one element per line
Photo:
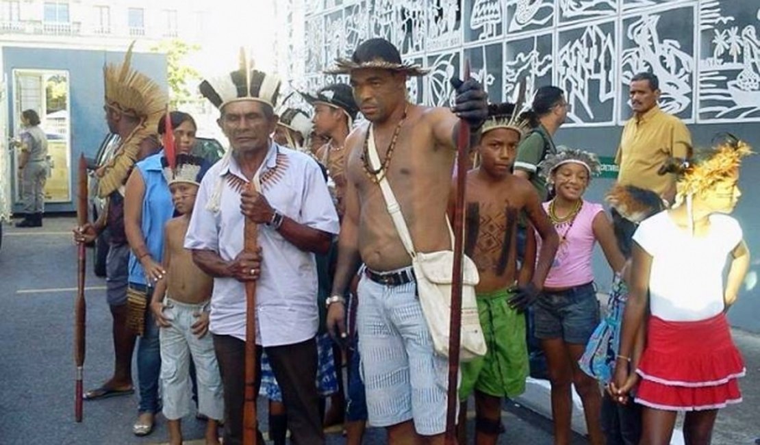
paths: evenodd
<path fill-rule="evenodd" d="M 464 80 L 470 78 L 470 61 L 464 62 Z M 467 159 L 470 156 L 470 125 L 459 120 L 457 137 L 457 194 L 454 200 L 454 265 L 451 267 L 451 320 L 448 325 L 448 406 L 446 407 L 446 445 L 457 443 L 457 375 L 462 324 L 462 255 L 464 245 L 464 187 Z"/>

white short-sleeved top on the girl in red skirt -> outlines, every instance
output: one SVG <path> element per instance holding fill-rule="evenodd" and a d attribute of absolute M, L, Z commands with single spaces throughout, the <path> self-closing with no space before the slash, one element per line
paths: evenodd
<path fill-rule="evenodd" d="M 634 241 L 652 256 L 649 308 L 670 321 L 695 321 L 724 310 L 723 271 L 728 255 L 742 241 L 739 222 L 713 214 L 705 237 L 676 226 L 667 211 L 641 222 Z"/>

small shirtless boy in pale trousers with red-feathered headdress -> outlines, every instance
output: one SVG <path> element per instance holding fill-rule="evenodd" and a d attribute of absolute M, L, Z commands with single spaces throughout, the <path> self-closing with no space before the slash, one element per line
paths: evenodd
<path fill-rule="evenodd" d="M 163 267 L 166 275 L 156 286 L 150 310 L 161 328 L 161 381 L 163 415 L 169 426 L 169 443 L 182 443 L 180 421 L 190 414 L 190 361 L 195 362 L 198 380 L 198 412 L 208 418 L 207 445 L 219 445 L 218 421 L 224 415 L 222 380 L 208 333 L 207 306 L 214 280 L 193 263 L 192 252 L 184 248 L 185 233 L 195 207 L 201 181 L 202 159 L 177 156 L 175 169 L 163 172 L 180 216 L 166 222 Z"/>

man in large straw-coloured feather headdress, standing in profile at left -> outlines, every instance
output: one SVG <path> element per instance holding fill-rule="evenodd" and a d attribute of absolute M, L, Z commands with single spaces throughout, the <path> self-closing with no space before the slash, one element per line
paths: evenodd
<path fill-rule="evenodd" d="M 107 198 L 106 210 L 93 224 L 74 231 L 74 240 L 91 242 L 106 227 L 109 253 L 106 257 L 106 298 L 113 317 L 113 345 L 116 354 L 113 376 L 84 399 L 100 399 L 134 393 L 131 379 L 135 333 L 127 327 L 127 281 L 129 246 L 124 229 L 124 185 L 132 166 L 158 148 L 157 124 L 166 109 L 166 94 L 149 77 L 131 68 L 132 43 L 124 62 L 103 67 L 106 122 L 121 142 L 112 159 L 100 166 L 96 175 L 98 195 Z"/>

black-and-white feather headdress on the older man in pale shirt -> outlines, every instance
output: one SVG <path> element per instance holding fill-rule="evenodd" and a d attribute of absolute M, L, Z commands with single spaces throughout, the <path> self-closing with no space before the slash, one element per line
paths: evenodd
<path fill-rule="evenodd" d="M 240 49 L 238 69 L 220 77 L 203 80 L 198 89 L 217 109 L 228 103 L 252 100 L 274 109 L 280 94 L 280 77 L 253 68 L 252 59 Z"/>

